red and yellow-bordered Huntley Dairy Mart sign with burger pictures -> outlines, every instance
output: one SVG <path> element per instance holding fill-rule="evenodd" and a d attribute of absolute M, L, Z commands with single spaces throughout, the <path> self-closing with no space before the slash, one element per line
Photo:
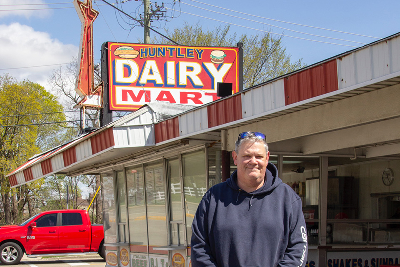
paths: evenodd
<path fill-rule="evenodd" d="M 111 110 L 150 101 L 203 105 L 218 99 L 218 83 L 239 91 L 238 47 L 107 43 Z"/>

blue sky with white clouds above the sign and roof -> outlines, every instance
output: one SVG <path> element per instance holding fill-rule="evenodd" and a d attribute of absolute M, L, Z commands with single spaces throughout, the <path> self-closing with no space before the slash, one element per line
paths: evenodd
<path fill-rule="evenodd" d="M 143 12 L 142 1 L 122 2 L 118 1 L 118 7 L 133 17 Z M 93 7 L 100 12 L 94 22 L 95 63 L 100 61 L 102 43 L 135 43 L 143 39 L 142 27 L 123 29 L 130 26 L 113 7 L 101 0 L 93 1 Z M 165 7 L 168 16 L 172 11 L 174 16 L 169 22 L 153 23 L 161 27 L 155 28 L 161 33 L 185 21 L 209 29 L 230 23 L 231 33 L 238 36 L 271 31 L 284 35 L 283 44 L 293 61 L 302 59 L 308 65 L 400 32 L 398 0 L 183 0 L 175 1 L 175 5 L 172 0 L 165 0 Z M 51 90 L 47 80 L 52 71 L 78 56 L 80 31 L 81 22 L 72 0 L 0 0 L 0 75 L 9 73 L 18 80 L 29 79 Z"/>

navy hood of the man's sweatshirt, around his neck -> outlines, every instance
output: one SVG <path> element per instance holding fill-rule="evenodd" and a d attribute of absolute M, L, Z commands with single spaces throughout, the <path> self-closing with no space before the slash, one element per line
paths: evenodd
<path fill-rule="evenodd" d="M 245 192 L 242 189 L 240 189 L 240 187 L 237 185 L 237 170 L 235 170 L 230 176 L 230 178 L 226 180 L 226 183 L 229 185 L 230 188 L 232 188 L 235 191 L 257 196 L 266 194 L 274 190 L 279 184 L 282 183 L 282 180 L 278 177 L 278 169 L 276 168 L 276 166 L 272 163 L 268 163 L 265 171 L 264 184 L 262 185 L 262 187 L 258 188 L 253 192 Z"/>

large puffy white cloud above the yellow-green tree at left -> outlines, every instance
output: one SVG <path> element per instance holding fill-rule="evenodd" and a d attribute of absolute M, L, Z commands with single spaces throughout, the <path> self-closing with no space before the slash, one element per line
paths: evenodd
<path fill-rule="evenodd" d="M 77 46 L 63 44 L 48 33 L 19 23 L 0 25 L 0 75 L 29 79 L 49 90 L 47 80 L 53 70 L 77 55 Z"/>

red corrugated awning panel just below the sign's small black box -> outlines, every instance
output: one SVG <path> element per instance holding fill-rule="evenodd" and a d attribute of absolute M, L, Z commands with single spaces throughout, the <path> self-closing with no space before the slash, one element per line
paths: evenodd
<path fill-rule="evenodd" d="M 243 118 L 241 94 L 207 106 L 208 127 L 215 127 Z"/>

